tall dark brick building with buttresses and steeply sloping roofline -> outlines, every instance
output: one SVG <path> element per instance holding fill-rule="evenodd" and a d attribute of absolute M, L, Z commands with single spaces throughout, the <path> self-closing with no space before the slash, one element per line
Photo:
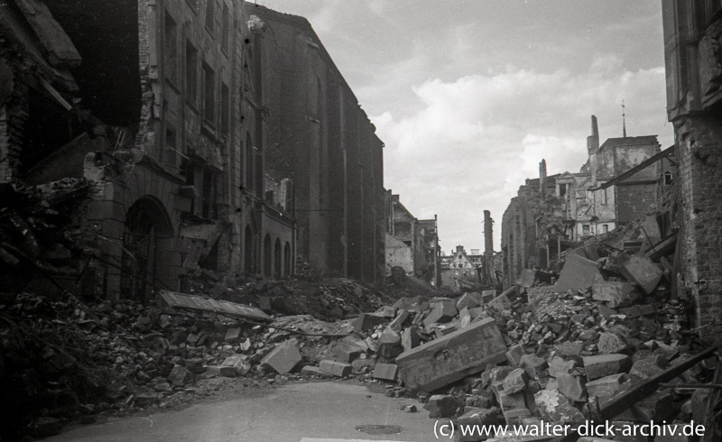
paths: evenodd
<path fill-rule="evenodd" d="M 267 176 L 292 180 L 282 198 L 292 195 L 298 253 L 330 274 L 383 281 L 384 143 L 308 20 L 250 3 L 245 12 L 248 136 Z"/>

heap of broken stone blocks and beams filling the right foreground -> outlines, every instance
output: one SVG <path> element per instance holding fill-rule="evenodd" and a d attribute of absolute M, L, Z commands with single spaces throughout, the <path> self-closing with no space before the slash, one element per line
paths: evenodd
<path fill-rule="evenodd" d="M 668 281 L 647 254 L 599 257 L 585 246 L 568 253 L 555 285 L 399 299 L 362 314 L 335 359 L 303 370 L 395 382 L 390 391 L 417 396 L 430 418 L 485 425 L 593 419 L 653 382 L 612 417 L 700 422 L 709 390 L 684 386 L 709 382 L 715 359 L 673 373 L 663 388 L 656 378 L 708 349 Z"/>

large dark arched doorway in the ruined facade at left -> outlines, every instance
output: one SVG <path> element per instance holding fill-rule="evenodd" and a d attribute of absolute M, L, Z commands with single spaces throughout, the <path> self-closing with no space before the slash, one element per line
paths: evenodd
<path fill-rule="evenodd" d="M 167 273 L 162 267 L 168 265 L 167 260 L 160 259 L 164 251 L 159 250 L 159 239 L 172 235 L 171 219 L 156 198 L 140 198 L 128 209 L 121 260 L 122 296 L 146 302 L 153 292 L 167 288 L 158 278 Z"/>

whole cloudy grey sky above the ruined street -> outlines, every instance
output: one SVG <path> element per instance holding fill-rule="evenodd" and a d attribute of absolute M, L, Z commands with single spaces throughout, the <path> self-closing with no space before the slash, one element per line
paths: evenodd
<path fill-rule="evenodd" d="M 673 143 L 660 0 L 257 0 L 310 21 L 386 144 L 384 186 L 418 218 L 439 216 L 442 250 L 484 247 L 539 162 L 587 160 L 602 141 Z"/>

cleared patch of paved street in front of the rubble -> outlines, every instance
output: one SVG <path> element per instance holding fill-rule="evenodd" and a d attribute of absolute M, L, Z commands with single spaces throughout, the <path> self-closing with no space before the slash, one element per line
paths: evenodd
<path fill-rule="evenodd" d="M 267 394 L 200 404 L 186 410 L 119 419 L 76 428 L 52 441 L 427 441 L 433 420 L 425 410 L 408 413 L 411 399 L 394 399 L 366 386 L 341 382 L 299 383 Z M 400 434 L 367 434 L 362 425 L 402 428 Z"/>

